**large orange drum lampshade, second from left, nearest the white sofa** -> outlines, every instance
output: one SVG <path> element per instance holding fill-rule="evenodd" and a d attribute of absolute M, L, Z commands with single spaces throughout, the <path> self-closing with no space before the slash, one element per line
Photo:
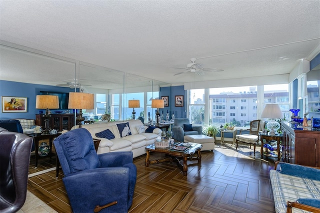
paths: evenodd
<path fill-rule="evenodd" d="M 93 109 L 94 94 L 83 92 L 69 92 L 68 108 Z"/>

